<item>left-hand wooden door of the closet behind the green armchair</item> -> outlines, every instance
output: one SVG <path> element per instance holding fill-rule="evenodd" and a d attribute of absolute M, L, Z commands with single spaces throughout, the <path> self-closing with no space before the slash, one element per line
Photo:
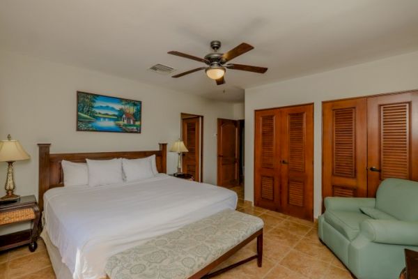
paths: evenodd
<path fill-rule="evenodd" d="M 323 197 L 367 196 L 367 100 L 323 103 Z"/>

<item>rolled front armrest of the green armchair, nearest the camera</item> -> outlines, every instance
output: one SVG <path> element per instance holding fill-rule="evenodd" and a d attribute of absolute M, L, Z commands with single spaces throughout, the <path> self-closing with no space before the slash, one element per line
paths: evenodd
<path fill-rule="evenodd" d="M 377 243 L 418 246 L 418 222 L 364 220 L 360 234 Z"/>

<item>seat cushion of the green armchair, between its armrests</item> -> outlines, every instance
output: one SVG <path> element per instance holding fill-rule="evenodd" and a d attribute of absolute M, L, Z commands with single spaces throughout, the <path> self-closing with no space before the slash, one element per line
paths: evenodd
<path fill-rule="evenodd" d="M 337 211 L 329 210 L 325 211 L 324 218 L 329 223 L 339 231 L 343 236 L 348 240 L 353 240 L 359 234 L 360 223 L 364 220 L 370 218 L 365 214 L 357 210 L 355 211 Z"/>

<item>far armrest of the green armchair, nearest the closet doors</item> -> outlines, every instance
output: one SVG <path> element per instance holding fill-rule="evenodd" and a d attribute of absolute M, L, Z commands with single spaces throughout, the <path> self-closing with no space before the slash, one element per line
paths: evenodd
<path fill-rule="evenodd" d="M 360 207 L 375 207 L 373 197 L 325 197 L 325 209 L 359 211 Z"/>

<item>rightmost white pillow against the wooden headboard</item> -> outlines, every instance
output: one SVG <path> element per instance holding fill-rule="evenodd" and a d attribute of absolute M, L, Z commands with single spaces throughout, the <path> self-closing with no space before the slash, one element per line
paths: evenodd
<path fill-rule="evenodd" d="M 154 177 L 153 166 L 149 158 L 122 159 L 125 181 L 129 182 Z"/>

